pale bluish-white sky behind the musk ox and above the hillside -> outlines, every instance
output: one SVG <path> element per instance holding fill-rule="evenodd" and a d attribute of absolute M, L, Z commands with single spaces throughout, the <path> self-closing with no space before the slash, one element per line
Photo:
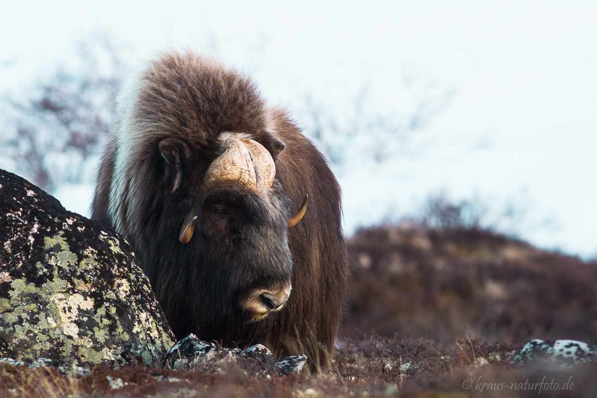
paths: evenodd
<path fill-rule="evenodd" d="M 216 49 L 291 110 L 309 94 L 343 115 L 367 87 L 370 107 L 401 115 L 404 76 L 414 76 L 451 100 L 417 137 L 426 146 L 398 153 L 389 170 L 341 176 L 347 232 L 447 189 L 497 208 L 519 200 L 524 239 L 597 255 L 597 2 L 322 3 L 5 2 L 0 92 L 67 62 L 96 32 L 130 45 L 131 62 L 167 47 Z M 60 192 L 84 212 L 85 199 Z"/>

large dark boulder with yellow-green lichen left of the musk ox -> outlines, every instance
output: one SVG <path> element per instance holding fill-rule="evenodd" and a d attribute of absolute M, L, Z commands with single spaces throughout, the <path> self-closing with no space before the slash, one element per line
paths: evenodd
<path fill-rule="evenodd" d="M 128 244 L 0 170 L 0 357 L 149 364 L 173 343 Z"/>

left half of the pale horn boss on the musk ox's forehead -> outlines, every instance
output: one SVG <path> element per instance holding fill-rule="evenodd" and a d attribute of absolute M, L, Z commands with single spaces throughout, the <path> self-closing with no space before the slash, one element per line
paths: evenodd
<path fill-rule="evenodd" d="M 247 146 L 236 138 L 224 141 L 224 153 L 211 162 L 205 174 L 205 185 L 237 185 L 256 189 L 257 178 Z"/>

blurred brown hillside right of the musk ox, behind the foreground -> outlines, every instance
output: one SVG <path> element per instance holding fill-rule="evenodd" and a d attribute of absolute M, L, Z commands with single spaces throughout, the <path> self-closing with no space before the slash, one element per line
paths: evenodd
<path fill-rule="evenodd" d="M 476 228 L 359 230 L 343 334 L 595 341 L 597 261 Z"/>

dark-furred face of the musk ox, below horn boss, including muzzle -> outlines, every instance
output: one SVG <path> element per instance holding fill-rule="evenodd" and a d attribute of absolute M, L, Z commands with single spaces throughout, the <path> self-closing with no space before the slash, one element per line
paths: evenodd
<path fill-rule="evenodd" d="M 212 285 L 203 299 L 210 318 L 259 320 L 288 299 L 292 259 L 287 209 L 279 190 L 268 196 L 238 187 L 210 190 L 196 209 L 197 227 L 187 243 L 189 264 Z"/>

